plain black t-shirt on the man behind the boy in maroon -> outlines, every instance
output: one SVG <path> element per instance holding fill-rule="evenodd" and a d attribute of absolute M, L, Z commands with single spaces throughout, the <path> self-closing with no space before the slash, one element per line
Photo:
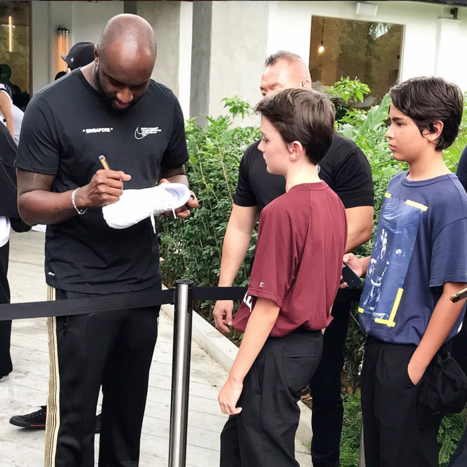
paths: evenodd
<path fill-rule="evenodd" d="M 273 199 L 286 192 L 286 180 L 266 169 L 259 141 L 251 144 L 240 162 L 234 203 L 238 206 L 258 206 L 261 212 Z M 339 133 L 320 162 L 320 178 L 341 198 L 346 209 L 374 206 L 375 192 L 368 160 L 361 149 Z"/>

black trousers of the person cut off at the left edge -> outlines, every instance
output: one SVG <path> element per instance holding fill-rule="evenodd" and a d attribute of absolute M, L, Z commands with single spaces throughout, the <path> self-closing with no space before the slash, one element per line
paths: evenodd
<path fill-rule="evenodd" d="M 8 285 L 8 258 L 10 242 L 0 247 L 0 304 L 10 303 L 10 287 Z M 11 321 L 0 321 L 0 377 L 13 371 L 10 356 Z"/>

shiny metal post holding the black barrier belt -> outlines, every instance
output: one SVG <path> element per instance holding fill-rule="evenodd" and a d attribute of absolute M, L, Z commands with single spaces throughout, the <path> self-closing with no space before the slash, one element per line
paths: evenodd
<path fill-rule="evenodd" d="M 193 321 L 193 281 L 179 279 L 176 285 L 169 467 L 185 467 Z"/>

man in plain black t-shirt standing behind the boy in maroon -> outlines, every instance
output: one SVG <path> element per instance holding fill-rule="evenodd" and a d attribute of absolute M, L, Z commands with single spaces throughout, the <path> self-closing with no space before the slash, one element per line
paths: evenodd
<path fill-rule="evenodd" d="M 263 96 L 277 89 L 297 87 L 311 88 L 310 72 L 302 58 L 287 51 L 270 55 L 261 77 Z M 259 144 L 260 141 L 252 144 L 240 162 L 238 186 L 224 238 L 219 286 L 232 286 L 250 245 L 257 216 L 273 199 L 286 192 L 284 177 L 268 173 L 263 153 L 258 149 Z M 334 133 L 333 143 L 320 166 L 320 178 L 337 193 L 345 207 L 348 223 L 346 251 L 353 251 L 370 238 L 373 229 L 374 192 L 370 164 L 356 144 Z M 310 281 L 313 281 L 312 277 Z M 216 303 L 214 317 L 220 331 L 229 331 L 227 325 L 232 324 L 233 308 L 232 301 Z M 310 382 L 313 397 L 311 457 L 314 467 L 339 466 L 343 418 L 341 371 L 350 304 L 335 303 L 331 314 L 333 321 L 324 333 L 323 357 Z M 262 378 L 261 375 L 258 377 Z M 280 412 L 277 414 L 277 426 L 281 426 Z M 221 435 L 222 446 L 224 442 L 232 446 L 231 440 L 234 438 L 242 449 L 244 436 L 239 434 L 242 431 L 242 416 L 247 415 L 234 415 L 238 417 L 238 423 L 226 425 Z M 235 452 L 238 454 L 239 450 Z M 236 455 L 226 456 L 221 461 L 222 467 L 240 465 Z"/>

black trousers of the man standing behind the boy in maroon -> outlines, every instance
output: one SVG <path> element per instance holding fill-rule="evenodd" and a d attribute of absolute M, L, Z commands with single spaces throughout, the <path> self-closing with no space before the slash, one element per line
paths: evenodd
<path fill-rule="evenodd" d="M 323 336 L 323 357 L 310 381 L 313 398 L 311 459 L 313 467 L 339 467 L 344 408 L 341 372 L 349 326 L 350 303 L 336 302 Z"/>

